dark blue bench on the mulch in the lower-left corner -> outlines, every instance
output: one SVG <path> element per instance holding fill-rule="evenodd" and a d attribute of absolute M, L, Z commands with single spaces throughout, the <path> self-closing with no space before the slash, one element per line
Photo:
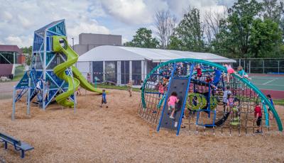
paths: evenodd
<path fill-rule="evenodd" d="M 8 143 L 13 145 L 16 151 L 21 150 L 21 158 L 25 157 L 25 152 L 28 150 L 33 150 L 34 148 L 31 145 L 28 145 L 26 142 L 21 142 L 20 140 L 11 137 L 10 135 L 6 135 L 4 133 L 0 133 L 0 142 L 4 142 L 5 150 L 8 148 Z"/>

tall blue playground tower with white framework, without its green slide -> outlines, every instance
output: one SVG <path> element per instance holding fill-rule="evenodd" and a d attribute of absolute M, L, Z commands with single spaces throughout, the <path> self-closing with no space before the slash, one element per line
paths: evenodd
<path fill-rule="evenodd" d="M 68 84 L 58 78 L 53 72 L 53 68 L 65 62 L 67 57 L 53 51 L 53 35 L 66 36 L 65 20 L 54 21 L 53 23 L 35 30 L 33 36 L 33 53 L 31 56 L 31 66 L 23 75 L 23 78 L 14 86 L 13 90 L 13 114 L 15 115 L 16 102 L 27 94 L 27 114 L 30 114 L 30 102 L 36 98 L 40 108 L 45 108 L 53 102 L 53 98 L 62 92 L 67 91 Z M 71 67 L 66 69 L 66 74 L 72 77 Z M 49 83 L 49 89 L 45 85 Z M 76 103 L 74 95 L 69 98 Z M 75 107 L 75 105 L 74 105 Z"/>

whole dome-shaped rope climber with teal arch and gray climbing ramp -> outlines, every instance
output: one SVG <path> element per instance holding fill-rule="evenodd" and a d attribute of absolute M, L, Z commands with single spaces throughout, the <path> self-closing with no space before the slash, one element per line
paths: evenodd
<path fill-rule="evenodd" d="M 202 68 L 202 76 L 197 77 L 196 65 Z M 214 78 L 214 70 L 222 72 L 216 86 L 209 78 Z M 261 131 L 283 131 L 278 113 L 266 96 L 251 81 L 237 74 L 231 74 L 226 81 L 226 67 L 204 60 L 178 59 L 164 62 L 155 67 L 143 82 L 141 103 L 138 116 L 152 125 L 175 130 L 179 135 L 182 123 L 187 120 L 187 129 L 196 133 L 203 130 L 219 130 L 229 135 L 237 131 L 248 135 L 255 133 L 256 103 L 262 109 Z M 163 85 L 163 91 L 160 87 Z M 224 105 L 223 96 L 226 88 L 231 91 L 234 104 Z M 175 118 L 171 119 L 168 110 L 168 98 L 175 91 L 180 101 L 175 105 Z M 269 110 L 271 114 L 269 115 Z M 182 118 L 182 116 L 185 118 Z M 270 116 L 274 118 L 270 118 Z"/>

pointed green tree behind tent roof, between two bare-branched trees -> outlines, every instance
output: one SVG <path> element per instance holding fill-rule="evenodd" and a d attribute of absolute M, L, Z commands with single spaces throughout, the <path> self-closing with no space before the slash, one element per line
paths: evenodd
<path fill-rule="evenodd" d="M 178 27 L 175 28 L 175 33 L 175 37 L 179 41 L 173 37 L 171 42 L 174 41 L 178 45 L 173 47 L 174 44 L 171 43 L 171 48 L 197 52 L 204 50 L 203 30 L 200 23 L 200 11 L 198 9 L 191 9 L 185 13 Z"/>

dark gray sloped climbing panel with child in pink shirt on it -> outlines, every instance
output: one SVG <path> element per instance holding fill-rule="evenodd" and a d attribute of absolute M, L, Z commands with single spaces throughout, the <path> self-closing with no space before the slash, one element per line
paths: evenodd
<path fill-rule="evenodd" d="M 168 98 L 166 99 L 165 103 L 165 111 L 163 111 L 163 119 L 160 123 L 161 128 L 168 128 L 170 130 L 178 130 L 178 125 L 175 127 L 175 123 L 178 123 L 180 120 L 180 116 L 182 116 L 182 104 L 184 100 L 186 100 L 186 90 L 187 90 L 187 84 L 189 79 L 175 79 L 173 78 L 170 83 L 170 89 L 168 91 L 168 98 L 170 97 L 170 94 L 172 94 L 173 91 L 177 92 L 178 99 L 180 101 L 175 104 L 175 119 L 170 118 L 171 111 L 168 111 Z"/>

